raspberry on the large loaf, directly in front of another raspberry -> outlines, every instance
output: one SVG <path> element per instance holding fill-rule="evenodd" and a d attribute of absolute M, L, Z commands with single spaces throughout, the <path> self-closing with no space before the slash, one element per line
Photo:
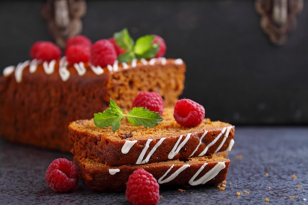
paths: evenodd
<path fill-rule="evenodd" d="M 66 60 L 73 65 L 78 62 L 88 62 L 90 58 L 90 47 L 84 45 L 72 45 L 65 51 Z"/>

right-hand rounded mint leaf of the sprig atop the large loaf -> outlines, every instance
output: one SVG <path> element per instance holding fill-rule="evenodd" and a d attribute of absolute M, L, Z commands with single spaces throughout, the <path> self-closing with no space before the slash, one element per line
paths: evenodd
<path fill-rule="evenodd" d="M 145 35 L 137 39 L 134 52 L 138 58 L 154 58 L 159 49 L 159 44 L 153 44 L 154 38 L 154 35 Z"/>

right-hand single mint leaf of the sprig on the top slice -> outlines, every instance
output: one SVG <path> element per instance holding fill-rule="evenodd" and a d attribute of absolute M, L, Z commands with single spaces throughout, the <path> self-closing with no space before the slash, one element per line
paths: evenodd
<path fill-rule="evenodd" d="M 157 112 L 154 113 L 142 107 L 134 107 L 126 117 L 129 123 L 135 126 L 143 125 L 144 127 L 154 127 L 163 120 Z"/>

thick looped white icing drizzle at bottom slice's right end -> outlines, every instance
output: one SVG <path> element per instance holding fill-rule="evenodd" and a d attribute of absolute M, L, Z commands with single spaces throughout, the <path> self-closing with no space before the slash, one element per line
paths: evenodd
<path fill-rule="evenodd" d="M 205 175 L 201 176 L 199 179 L 195 180 L 195 178 L 201 173 L 201 171 L 208 165 L 208 163 L 204 163 L 200 169 L 196 172 L 194 176 L 191 177 L 191 179 L 188 181 L 188 183 L 192 186 L 199 185 L 199 184 L 205 184 L 212 178 L 218 175 L 218 173 L 223 170 L 226 165 L 224 162 L 218 162 L 215 167 L 213 167 L 209 172 L 207 172 Z"/>

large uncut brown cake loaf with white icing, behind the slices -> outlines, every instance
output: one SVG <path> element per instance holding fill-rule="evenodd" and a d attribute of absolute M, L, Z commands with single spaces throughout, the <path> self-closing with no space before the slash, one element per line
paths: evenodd
<path fill-rule="evenodd" d="M 69 122 L 104 111 L 110 98 L 123 110 L 138 92 L 155 91 L 174 106 L 185 81 L 182 59 L 133 59 L 106 67 L 88 62 L 27 60 L 0 76 L 0 137 L 24 145 L 70 152 Z"/>

